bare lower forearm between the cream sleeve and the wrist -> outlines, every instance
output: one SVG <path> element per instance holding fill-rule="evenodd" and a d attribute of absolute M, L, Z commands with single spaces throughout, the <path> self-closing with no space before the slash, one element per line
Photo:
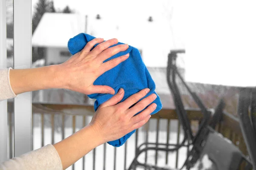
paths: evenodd
<path fill-rule="evenodd" d="M 53 146 L 61 158 L 63 169 L 66 169 L 103 143 L 103 139 L 88 125 Z"/>

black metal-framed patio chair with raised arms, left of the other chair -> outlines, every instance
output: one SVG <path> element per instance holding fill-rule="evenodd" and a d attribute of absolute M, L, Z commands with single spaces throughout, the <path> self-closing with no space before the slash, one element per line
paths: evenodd
<path fill-rule="evenodd" d="M 163 150 L 167 152 L 173 152 L 184 146 L 188 147 L 188 149 L 189 146 L 192 146 L 192 149 L 189 150 L 187 159 L 183 165 L 183 167 L 186 167 L 187 170 L 193 167 L 197 161 L 200 161 L 205 154 L 207 154 L 209 159 L 213 162 L 212 170 L 238 170 L 241 162 L 244 160 L 248 162 L 248 167 L 250 167 L 250 162 L 245 158 L 241 151 L 234 144 L 221 137 L 214 130 L 215 126 L 222 119 L 224 101 L 221 100 L 219 102 L 211 119 L 211 113 L 207 111 L 207 108 L 204 106 L 203 102 L 201 102 L 199 97 L 191 91 L 176 67 L 176 58 L 177 54 L 179 53 L 185 53 L 185 50 L 175 50 L 171 51 L 169 54 L 167 66 L 167 82 L 170 90 L 172 91 L 178 120 L 184 130 L 183 142 L 181 144 L 155 144 L 155 147 L 145 148 L 143 148 L 144 145 L 147 146 L 148 144 L 154 143 L 141 144 L 139 147 L 137 147 L 136 156 L 128 170 L 135 170 L 137 166 L 145 167 L 146 170 L 172 170 L 169 168 L 140 163 L 137 158 L 141 153 L 147 150 Z M 200 121 L 198 132 L 195 136 L 192 134 L 189 118 L 184 108 L 179 88 L 176 84 L 176 76 L 180 78 L 181 82 L 189 91 L 189 94 L 192 96 L 193 100 L 203 113 L 203 118 Z M 185 145 L 186 142 L 188 144 Z M 160 145 L 165 146 L 165 148 L 160 147 Z M 168 146 L 175 146 L 175 148 L 169 149 Z"/>

